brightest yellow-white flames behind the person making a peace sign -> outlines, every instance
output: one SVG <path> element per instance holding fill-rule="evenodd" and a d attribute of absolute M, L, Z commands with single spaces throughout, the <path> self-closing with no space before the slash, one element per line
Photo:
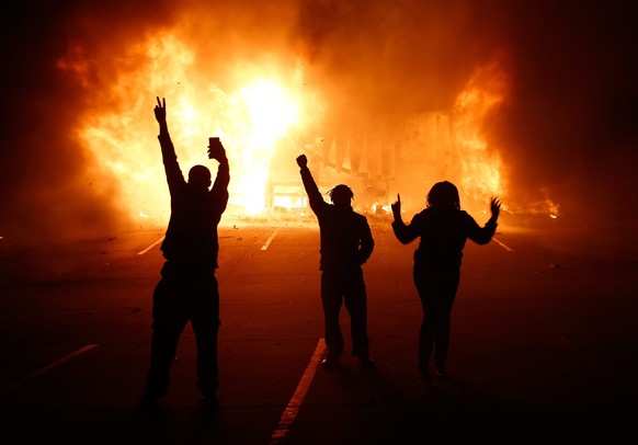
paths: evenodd
<path fill-rule="evenodd" d="M 89 62 L 80 46 L 71 49 L 59 67 L 82 81 Z M 156 95 L 167 99 L 169 130 L 184 175 L 196 163 L 215 172 L 206 147 L 209 136 L 218 136 L 231 166 L 230 204 L 248 214 L 263 210 L 275 145 L 299 124 L 298 70 L 289 75 L 292 79 L 277 79 L 251 76 L 242 67 L 238 77 L 244 79 L 244 87 L 224 91 L 193 70 L 193 53 L 172 34 L 129 50 L 127 59 L 147 62 L 119 73 L 110 91 L 102 93 L 116 101 L 116 111 L 96 109 L 77 128 L 78 138 L 106 176 L 118 182 L 125 212 L 138 218 L 145 215 L 152 222 L 168 220 L 168 187 L 152 115 Z"/>

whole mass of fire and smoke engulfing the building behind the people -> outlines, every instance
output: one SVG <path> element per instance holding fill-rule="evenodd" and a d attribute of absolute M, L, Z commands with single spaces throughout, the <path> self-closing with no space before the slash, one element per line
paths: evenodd
<path fill-rule="evenodd" d="M 301 152 L 320 185 L 351 185 L 367 212 L 387 210 L 397 193 L 406 212 L 418 210 L 434 182 L 449 180 L 477 218 L 492 195 L 510 215 L 556 216 L 565 205 L 573 213 L 586 207 L 582 195 L 604 195 L 595 184 L 627 185 L 630 162 L 601 168 L 591 147 L 608 142 L 614 158 L 633 152 L 635 121 L 609 98 L 637 89 L 609 92 L 594 68 L 607 57 L 607 70 L 627 79 L 623 48 L 635 33 L 603 14 L 597 30 L 616 46 L 599 48 L 584 33 L 597 10 L 549 3 L 25 5 L 4 43 L 14 67 L 4 84 L 15 88 L 2 153 L 10 212 L 0 229 L 163 225 L 156 96 L 167 99 L 183 169 L 208 162 L 208 137 L 221 138 L 238 214 L 303 207 Z M 532 15 L 552 21 L 532 32 Z M 578 42 L 566 37 L 574 32 Z M 585 128 L 601 115 L 617 118 Z"/>

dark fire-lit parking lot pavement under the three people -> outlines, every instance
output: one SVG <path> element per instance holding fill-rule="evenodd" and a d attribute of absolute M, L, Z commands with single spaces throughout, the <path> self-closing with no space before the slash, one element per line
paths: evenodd
<path fill-rule="evenodd" d="M 198 409 L 186 329 L 171 391 L 151 419 L 136 403 L 162 229 L 64 246 L 0 244 L 5 443 L 267 444 L 286 407 L 298 408 L 280 431 L 290 444 L 539 443 L 557 434 L 609 443 L 635 435 L 635 230 L 504 224 L 487 247 L 468 243 L 453 315 L 453 379 L 423 383 L 415 246 L 399 244 L 387 220 L 369 220 L 376 370 L 345 356 L 341 370 L 309 372 L 322 335 L 316 220 L 225 217 L 221 406 Z M 295 399 L 303 376 L 311 379 Z"/>

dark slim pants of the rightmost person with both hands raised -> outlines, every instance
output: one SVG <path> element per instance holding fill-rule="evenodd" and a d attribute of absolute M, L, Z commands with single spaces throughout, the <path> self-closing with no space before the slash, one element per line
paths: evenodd
<path fill-rule="evenodd" d="M 423 307 L 419 335 L 419 361 L 434 360 L 445 365 L 449 349 L 452 306 L 459 284 L 459 271 L 432 271 L 414 265 L 414 284 Z"/>

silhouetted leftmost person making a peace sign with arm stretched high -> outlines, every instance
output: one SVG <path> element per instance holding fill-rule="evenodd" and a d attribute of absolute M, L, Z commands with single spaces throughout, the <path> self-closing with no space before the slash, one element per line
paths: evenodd
<path fill-rule="evenodd" d="M 171 195 L 171 216 L 161 244 L 166 262 L 153 293 L 151 358 L 140 408 L 153 408 L 167 395 L 169 370 L 189 321 L 197 346 L 197 388 L 202 404 L 215 407 L 219 386 L 217 225 L 228 204 L 228 159 L 219 139 L 210 138 L 208 158 L 219 162 L 213 187 L 210 171 L 204 166 L 194 166 L 185 181 L 169 135 L 166 100 L 160 103 L 158 98 L 157 101 L 155 116 Z"/>

